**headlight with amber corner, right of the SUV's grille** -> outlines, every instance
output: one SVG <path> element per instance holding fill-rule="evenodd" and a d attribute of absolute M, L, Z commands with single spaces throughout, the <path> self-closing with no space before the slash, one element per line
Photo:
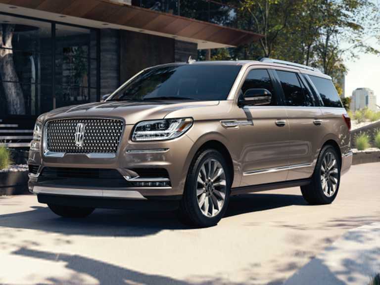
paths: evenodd
<path fill-rule="evenodd" d="M 190 129 L 191 118 L 143 121 L 136 125 L 132 141 L 163 141 L 178 138 Z"/>

